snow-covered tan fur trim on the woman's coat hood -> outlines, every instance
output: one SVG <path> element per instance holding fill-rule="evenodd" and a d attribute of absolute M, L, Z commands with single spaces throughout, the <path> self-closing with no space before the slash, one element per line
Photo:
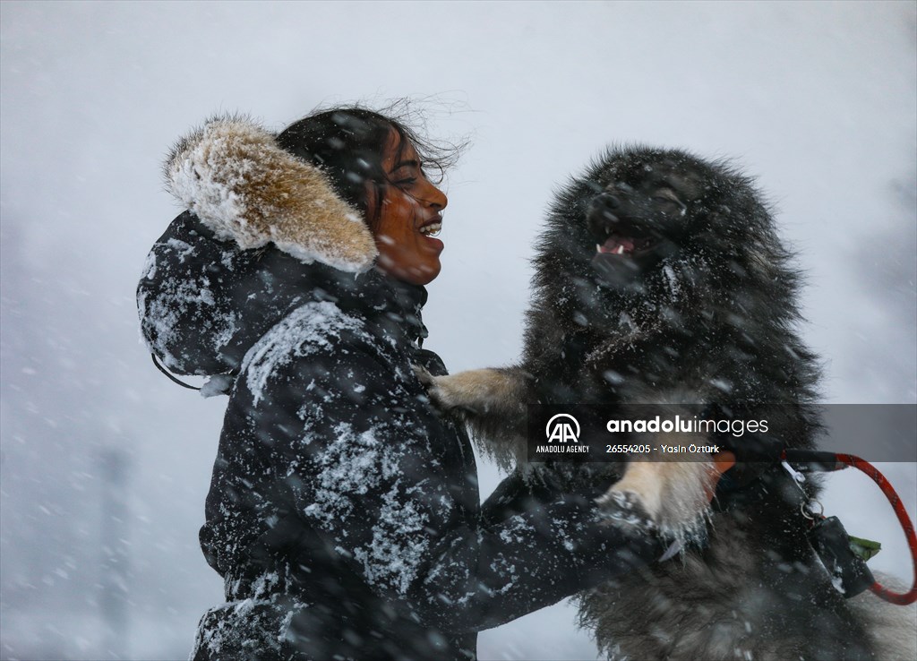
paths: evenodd
<path fill-rule="evenodd" d="M 166 185 L 221 239 L 273 243 L 305 263 L 369 270 L 376 243 L 359 212 L 315 166 L 277 146 L 242 116 L 217 116 L 171 150 Z"/>

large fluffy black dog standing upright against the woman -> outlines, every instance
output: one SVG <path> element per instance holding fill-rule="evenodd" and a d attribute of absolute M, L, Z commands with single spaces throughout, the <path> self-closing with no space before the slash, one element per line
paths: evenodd
<path fill-rule="evenodd" d="M 694 436 L 725 442 L 739 459 L 713 510 L 709 463 L 607 465 L 619 479 L 609 506 L 707 542 L 582 596 L 581 620 L 602 650 L 634 659 L 913 658 L 904 623 L 913 611 L 834 589 L 801 511 L 817 486 L 802 490 L 777 460 L 783 448 L 813 446 L 818 369 L 797 335 L 799 276 L 752 182 L 683 151 L 609 149 L 558 195 L 535 264 L 521 363 L 427 378 L 431 397 L 464 413 L 493 456 L 525 464 L 520 402 L 533 393 L 602 413 L 692 405 L 768 421 L 767 433 Z"/>

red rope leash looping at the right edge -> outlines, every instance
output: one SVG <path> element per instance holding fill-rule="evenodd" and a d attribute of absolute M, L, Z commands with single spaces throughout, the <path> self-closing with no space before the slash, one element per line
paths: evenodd
<path fill-rule="evenodd" d="M 904 509 L 904 503 L 901 502 L 900 496 L 889 483 L 889 480 L 879 472 L 878 468 L 868 461 L 854 455 L 841 455 L 832 452 L 816 452 L 811 450 L 784 450 L 780 458 L 790 463 L 805 464 L 808 470 L 839 470 L 852 466 L 866 473 L 882 490 L 885 497 L 889 499 L 895 515 L 898 516 L 898 522 L 904 531 L 904 536 L 908 540 L 908 548 L 911 549 L 911 561 L 913 563 L 913 582 L 911 589 L 907 592 L 893 592 L 881 585 L 878 580 L 874 582 L 869 589 L 878 597 L 889 601 L 889 603 L 907 606 L 917 601 L 917 534 L 914 533 L 914 525 L 911 523 L 911 517 Z"/>

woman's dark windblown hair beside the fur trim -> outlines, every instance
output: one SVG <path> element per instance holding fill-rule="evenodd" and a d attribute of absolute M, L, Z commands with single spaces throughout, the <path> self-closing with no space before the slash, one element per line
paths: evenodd
<path fill-rule="evenodd" d="M 401 102 L 381 112 L 359 105 L 321 110 L 284 128 L 277 143 L 293 156 L 324 171 L 337 193 L 362 212 L 374 232 L 379 224 L 385 189 L 390 185 L 382 169 L 382 155 L 392 129 L 401 137 L 399 151 L 408 142 L 414 145 L 425 173 L 436 183 L 442 181 L 447 168 L 458 159 L 462 147 L 434 143 L 418 136 L 397 116 L 404 114 L 404 110 L 397 111 L 405 107 Z M 400 160 L 401 154 L 396 156 Z M 367 182 L 373 184 L 373 193 L 369 194 L 376 199 L 372 204 Z M 370 209 L 374 210 L 371 218 Z"/>

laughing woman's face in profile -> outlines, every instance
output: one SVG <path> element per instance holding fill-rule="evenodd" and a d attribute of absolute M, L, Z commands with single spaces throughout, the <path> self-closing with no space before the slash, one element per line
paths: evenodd
<path fill-rule="evenodd" d="M 443 242 L 431 235 L 442 224 L 446 195 L 426 178 L 414 145 L 402 144 L 393 129 L 382 154 L 382 168 L 389 185 L 375 233 L 377 268 L 400 281 L 426 284 L 439 275 Z M 369 212 L 371 217 L 374 210 Z"/>

